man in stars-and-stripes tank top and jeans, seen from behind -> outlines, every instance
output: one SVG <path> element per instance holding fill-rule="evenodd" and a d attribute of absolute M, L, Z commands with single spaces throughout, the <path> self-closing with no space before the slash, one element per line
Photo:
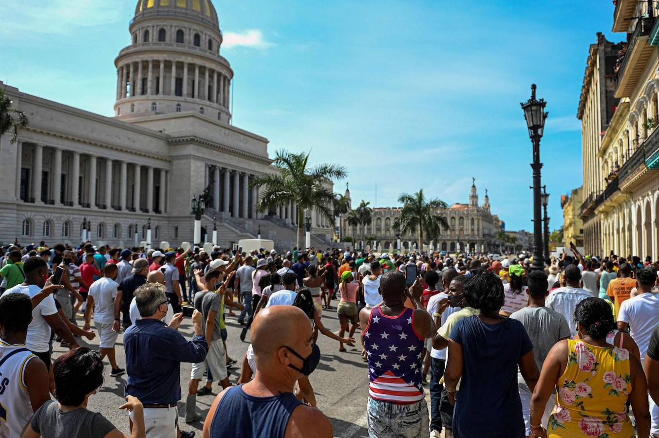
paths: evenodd
<path fill-rule="evenodd" d="M 428 437 L 428 406 L 422 387 L 424 340 L 436 330 L 420 298 L 420 279 L 407 290 L 405 275 L 388 271 L 380 280 L 382 304 L 359 315 L 368 359 L 368 435 Z M 405 307 L 407 298 L 414 308 Z"/>

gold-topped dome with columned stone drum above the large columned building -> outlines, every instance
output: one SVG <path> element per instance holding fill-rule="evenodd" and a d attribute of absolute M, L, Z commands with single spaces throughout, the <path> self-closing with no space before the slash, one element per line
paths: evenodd
<path fill-rule="evenodd" d="M 210 0 L 138 0 L 115 59 L 122 119 L 194 111 L 228 123 L 233 70 Z"/>

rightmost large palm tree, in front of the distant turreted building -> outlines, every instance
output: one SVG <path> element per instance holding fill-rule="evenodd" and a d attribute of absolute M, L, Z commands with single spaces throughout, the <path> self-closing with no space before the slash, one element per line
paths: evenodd
<path fill-rule="evenodd" d="M 418 230 L 418 249 L 423 249 L 423 235 L 428 241 L 437 240 L 442 229 L 448 229 L 449 223 L 444 216 L 436 214 L 437 210 L 445 209 L 448 205 L 439 199 L 426 201 L 423 189 L 413 194 L 403 193 L 398 202 L 403 204 L 399 219 L 401 234 L 408 231 L 414 233 Z"/>

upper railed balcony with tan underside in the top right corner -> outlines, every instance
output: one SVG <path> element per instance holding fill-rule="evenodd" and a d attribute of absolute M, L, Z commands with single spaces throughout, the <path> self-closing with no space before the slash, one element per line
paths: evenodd
<path fill-rule="evenodd" d="M 655 50 L 654 46 L 648 44 L 648 36 L 655 23 L 654 16 L 638 18 L 634 31 L 627 34 L 627 48 L 616 63 L 618 80 L 616 97 L 629 97 L 636 88 L 650 55 Z"/>

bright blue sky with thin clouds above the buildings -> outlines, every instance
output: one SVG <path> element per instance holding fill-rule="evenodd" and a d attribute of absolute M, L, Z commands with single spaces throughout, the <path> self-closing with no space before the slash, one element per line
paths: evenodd
<path fill-rule="evenodd" d="M 130 43 L 136 0 L 1 1 L 0 80 L 113 114 L 113 60 Z M 353 203 L 397 205 L 402 192 L 480 202 L 507 229 L 532 229 L 530 140 L 519 102 L 548 101 L 542 139 L 550 227 L 581 185 L 579 92 L 600 0 L 214 0 L 235 71 L 234 124 L 280 148 L 338 162 Z M 9 61 L 9 62 L 7 62 Z M 377 202 L 376 202 L 377 186 Z M 335 186 L 345 190 L 344 182 Z"/>

